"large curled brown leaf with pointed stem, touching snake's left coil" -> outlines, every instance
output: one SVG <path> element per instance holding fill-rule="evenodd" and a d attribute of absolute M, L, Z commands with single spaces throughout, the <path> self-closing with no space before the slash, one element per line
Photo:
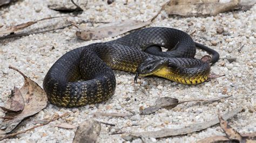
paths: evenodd
<path fill-rule="evenodd" d="M 24 109 L 20 112 L 7 112 L 5 117 L 12 117 L 10 120 L 3 120 L 0 125 L 0 134 L 10 133 L 14 128 L 26 117 L 35 115 L 47 106 L 47 96 L 44 90 L 29 77 L 24 75 L 18 69 L 9 66 L 9 68 L 18 71 L 24 77 L 24 84 L 21 89 L 21 94 L 24 99 Z"/>

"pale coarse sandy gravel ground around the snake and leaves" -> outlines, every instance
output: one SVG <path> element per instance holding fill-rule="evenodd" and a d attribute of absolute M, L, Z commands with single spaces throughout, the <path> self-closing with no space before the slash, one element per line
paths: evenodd
<path fill-rule="evenodd" d="M 17 2 L 8 8 L 2 8 L 0 9 L 0 24 L 16 25 L 50 16 L 69 15 L 50 10 L 47 7 L 48 3 L 49 1 L 25 0 Z M 116 1 L 111 5 L 107 5 L 106 2 L 102 1 L 89 2 L 87 4 L 88 9 L 79 15 L 81 18 L 69 17 L 48 20 L 31 26 L 29 30 L 40 27 L 56 27 L 56 25 L 64 24 L 66 19 L 101 22 L 117 22 L 125 19 L 147 20 L 156 15 L 160 5 L 163 3 L 164 1 L 156 0 L 145 2 L 130 1 L 127 5 L 124 5 L 123 1 Z M 212 66 L 212 72 L 219 75 L 225 74 L 225 76 L 199 85 L 182 85 L 157 77 L 140 78 L 138 80 L 140 84 L 134 84 L 134 74 L 115 71 L 117 88 L 115 94 L 108 101 L 74 109 L 57 108 L 50 104 L 46 109 L 26 120 L 42 120 L 51 117 L 54 113 L 62 115 L 65 112 L 72 112 L 71 116 L 18 135 L 17 138 L 5 139 L 0 142 L 72 142 L 76 129 L 67 130 L 55 127 L 55 125 L 65 122 L 78 125 L 86 119 L 95 119 L 116 125 L 115 127 L 102 125 L 98 142 L 123 142 L 125 140 L 120 134 L 111 134 L 116 132 L 142 132 L 157 131 L 163 128 L 181 128 L 193 123 L 211 120 L 216 116 L 218 109 L 220 109 L 221 113 L 224 113 L 239 106 L 242 106 L 244 111 L 232 118 L 230 125 L 240 133 L 256 132 L 255 18 L 256 6 L 253 6 L 248 11 L 233 11 L 205 18 L 168 17 L 165 12 L 161 12 L 150 26 L 173 27 L 188 33 L 196 30 L 192 35 L 195 41 L 201 42 L 220 53 L 220 60 Z M 88 26 L 91 26 L 91 24 L 88 24 Z M 223 34 L 217 33 L 218 27 L 224 27 Z M 14 70 L 8 69 L 9 65 L 17 67 L 42 86 L 46 72 L 64 53 L 79 46 L 120 37 L 83 41 L 77 39 L 76 30 L 75 27 L 69 27 L 54 32 L 1 40 L 0 92 L 2 96 L 0 104 L 3 105 L 8 99 L 10 89 L 14 85 L 21 87 L 23 84 L 23 77 Z M 217 45 L 212 46 L 211 42 L 217 42 Z M 205 54 L 205 52 L 198 52 L 197 58 Z M 232 58 L 236 60 L 229 62 L 228 60 Z M 232 95 L 232 97 L 213 103 L 192 102 L 181 104 L 173 110 L 161 109 L 151 115 L 138 114 L 140 106 L 146 108 L 153 105 L 154 101 L 159 97 L 175 97 L 182 101 L 227 95 Z M 89 115 L 93 112 L 129 113 L 128 110 L 134 111 L 136 115 L 124 118 Z M 4 116 L 4 112 L 0 110 L 0 117 L 2 116 Z M 30 126 L 33 126 L 33 124 L 22 125 L 18 131 Z M 218 125 L 215 125 L 196 133 L 163 139 L 150 138 L 149 141 L 194 142 L 212 135 L 224 135 L 224 133 Z M 142 142 L 141 139 L 133 141 Z"/>

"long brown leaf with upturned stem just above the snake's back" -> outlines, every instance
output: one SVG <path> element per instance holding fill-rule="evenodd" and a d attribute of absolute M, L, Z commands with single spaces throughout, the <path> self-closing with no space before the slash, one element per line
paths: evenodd
<path fill-rule="evenodd" d="M 109 23 L 95 28 L 87 28 L 75 25 L 80 30 L 76 32 L 76 35 L 78 38 L 88 41 L 102 39 L 105 37 L 116 37 L 117 35 L 129 32 L 131 30 L 136 30 L 151 24 L 152 21 L 156 19 L 159 13 L 164 9 L 167 3 L 161 6 L 161 9 L 158 11 L 156 16 L 145 22 L 140 20 L 125 20 L 124 22 Z"/>

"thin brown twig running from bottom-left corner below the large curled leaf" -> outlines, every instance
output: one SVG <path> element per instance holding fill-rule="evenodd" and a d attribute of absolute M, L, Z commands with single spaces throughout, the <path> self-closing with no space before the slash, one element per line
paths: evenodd
<path fill-rule="evenodd" d="M 15 136 L 18 135 L 18 134 L 22 134 L 22 133 L 25 133 L 25 132 L 27 132 L 27 131 L 33 130 L 34 128 L 37 128 L 37 127 L 40 127 L 40 126 L 49 124 L 49 123 L 51 123 L 52 121 L 55 121 L 55 120 L 57 120 L 57 119 L 59 119 L 59 118 L 62 118 L 62 117 L 64 117 L 64 116 L 67 116 L 67 115 L 70 115 L 70 113 L 64 113 L 62 116 L 55 117 L 55 118 L 53 118 L 53 119 L 51 119 L 51 120 L 49 120 L 49 121 L 47 121 L 47 122 L 45 122 L 45 123 L 43 123 L 43 124 L 30 127 L 30 128 L 28 128 L 28 129 L 26 129 L 26 130 L 24 130 L 24 131 L 19 131 L 19 132 L 16 132 L 16 133 L 7 134 L 7 135 L 5 135 L 4 137 L 0 138 L 0 140 L 15 137 Z"/>

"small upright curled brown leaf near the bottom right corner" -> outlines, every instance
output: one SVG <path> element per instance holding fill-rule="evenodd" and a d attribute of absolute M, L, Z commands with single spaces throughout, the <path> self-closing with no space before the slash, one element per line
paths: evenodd
<path fill-rule="evenodd" d="M 235 131 L 230 125 L 227 124 L 227 121 L 223 119 L 223 117 L 219 114 L 220 127 L 224 130 L 227 138 L 230 140 L 237 140 L 239 142 L 242 141 L 242 136 L 239 132 Z"/>

